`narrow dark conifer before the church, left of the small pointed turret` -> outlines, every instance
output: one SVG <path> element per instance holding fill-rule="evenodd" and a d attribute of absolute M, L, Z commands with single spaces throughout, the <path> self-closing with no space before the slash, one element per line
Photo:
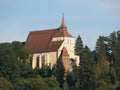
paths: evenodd
<path fill-rule="evenodd" d="M 57 78 L 57 81 L 59 82 L 59 87 L 63 88 L 65 68 L 62 62 L 61 55 L 59 59 L 57 60 L 56 65 L 53 67 L 53 74 Z"/>

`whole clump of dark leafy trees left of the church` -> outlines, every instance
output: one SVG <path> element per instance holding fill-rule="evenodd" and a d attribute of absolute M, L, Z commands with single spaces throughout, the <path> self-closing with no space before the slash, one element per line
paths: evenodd
<path fill-rule="evenodd" d="M 28 52 L 24 50 L 20 42 L 1 43 L 0 44 L 0 76 L 10 81 L 16 78 L 26 78 L 31 71 Z"/>

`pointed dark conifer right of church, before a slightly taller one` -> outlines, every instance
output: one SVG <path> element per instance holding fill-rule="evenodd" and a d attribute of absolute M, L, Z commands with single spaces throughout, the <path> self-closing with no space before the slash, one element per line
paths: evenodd
<path fill-rule="evenodd" d="M 94 59 L 90 49 L 85 46 L 82 52 L 82 58 L 79 67 L 79 89 L 80 90 L 93 90 L 93 64 Z M 78 88 L 78 86 L 77 86 Z"/>

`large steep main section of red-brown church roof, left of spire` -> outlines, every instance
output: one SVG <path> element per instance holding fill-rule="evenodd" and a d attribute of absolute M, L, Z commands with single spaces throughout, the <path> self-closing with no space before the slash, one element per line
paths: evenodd
<path fill-rule="evenodd" d="M 32 31 L 29 33 L 24 48 L 33 53 L 41 53 L 47 51 L 51 42 L 52 36 L 57 32 L 57 29 Z"/>

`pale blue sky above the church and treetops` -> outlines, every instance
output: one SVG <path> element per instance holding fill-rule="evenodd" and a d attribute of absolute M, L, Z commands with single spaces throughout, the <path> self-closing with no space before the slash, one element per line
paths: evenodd
<path fill-rule="evenodd" d="M 120 30 L 120 0 L 0 0 L 0 43 L 58 28 L 63 13 L 68 32 L 91 50 L 99 36 Z"/>

